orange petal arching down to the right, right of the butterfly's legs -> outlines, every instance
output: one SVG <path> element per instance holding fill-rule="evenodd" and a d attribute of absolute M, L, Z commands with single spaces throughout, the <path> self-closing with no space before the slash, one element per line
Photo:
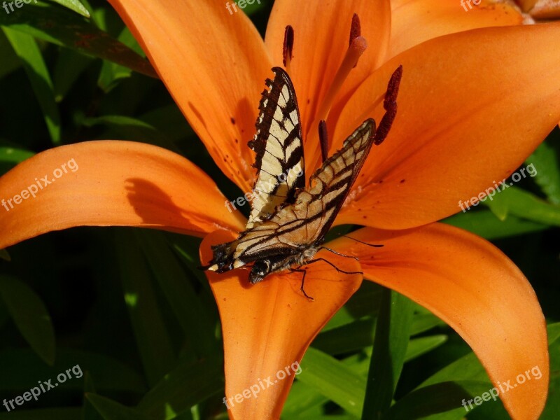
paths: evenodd
<path fill-rule="evenodd" d="M 330 246 L 360 258 L 367 279 L 430 309 L 458 332 L 495 386 L 538 366 L 542 377 L 500 393 L 514 420 L 538 419 L 549 357 L 545 318 L 531 284 L 501 251 L 469 232 L 433 223 L 413 230 L 365 228 Z"/>

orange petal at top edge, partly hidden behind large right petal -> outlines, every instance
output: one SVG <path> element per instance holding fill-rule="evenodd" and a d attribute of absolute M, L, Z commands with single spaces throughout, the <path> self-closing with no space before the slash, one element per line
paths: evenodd
<path fill-rule="evenodd" d="M 391 0 L 391 43 L 387 57 L 437 36 L 522 22 L 523 16 L 514 6 L 491 0 L 482 0 L 478 6 L 466 0 Z"/>

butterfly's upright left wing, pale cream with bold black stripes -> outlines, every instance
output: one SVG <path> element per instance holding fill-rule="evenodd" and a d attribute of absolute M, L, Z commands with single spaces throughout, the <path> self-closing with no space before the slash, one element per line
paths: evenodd
<path fill-rule="evenodd" d="M 300 111 L 293 84 L 280 67 L 274 80 L 267 80 L 259 105 L 255 138 L 257 180 L 253 188 L 251 214 L 246 225 L 253 228 L 274 214 L 276 208 L 293 202 L 295 189 L 305 185 Z"/>

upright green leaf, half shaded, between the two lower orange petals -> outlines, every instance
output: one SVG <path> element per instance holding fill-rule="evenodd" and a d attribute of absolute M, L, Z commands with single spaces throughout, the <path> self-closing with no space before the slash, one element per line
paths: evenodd
<path fill-rule="evenodd" d="M 362 420 L 379 419 L 379 415 L 391 406 L 405 363 L 413 316 L 414 302 L 393 290 L 384 290 L 375 328 Z"/>

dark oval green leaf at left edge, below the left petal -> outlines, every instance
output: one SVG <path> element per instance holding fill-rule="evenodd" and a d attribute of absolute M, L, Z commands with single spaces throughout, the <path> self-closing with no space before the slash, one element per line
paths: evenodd
<path fill-rule="evenodd" d="M 48 365 L 55 363 L 55 331 L 41 298 L 27 284 L 3 275 L 0 298 L 31 349 Z"/>

